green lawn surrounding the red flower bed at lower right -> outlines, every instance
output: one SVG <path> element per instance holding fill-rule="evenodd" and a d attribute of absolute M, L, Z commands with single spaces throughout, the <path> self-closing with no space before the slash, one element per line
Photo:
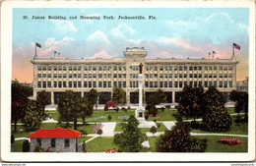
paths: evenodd
<path fill-rule="evenodd" d="M 248 138 L 221 137 L 221 136 L 194 136 L 192 138 L 207 139 L 207 149 L 205 152 L 247 152 L 248 151 Z M 237 145 L 221 144 L 218 142 L 219 138 L 238 138 L 242 141 L 242 143 Z"/>

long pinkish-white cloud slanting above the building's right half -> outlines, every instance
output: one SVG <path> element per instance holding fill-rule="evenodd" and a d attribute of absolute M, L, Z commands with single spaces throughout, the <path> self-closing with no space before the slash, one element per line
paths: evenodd
<path fill-rule="evenodd" d="M 184 39 L 181 38 L 168 38 L 168 37 L 160 37 L 160 41 L 167 44 L 171 43 L 176 46 L 185 48 L 185 49 L 190 49 L 194 51 L 201 51 L 200 47 L 193 46 L 192 44 L 186 42 Z"/>

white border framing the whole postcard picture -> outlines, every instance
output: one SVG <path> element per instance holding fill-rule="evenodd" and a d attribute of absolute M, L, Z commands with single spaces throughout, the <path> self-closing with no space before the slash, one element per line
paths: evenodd
<path fill-rule="evenodd" d="M 10 152 L 13 8 L 249 8 L 249 132 L 244 153 L 19 153 Z M 4 1 L 1 3 L 2 161 L 252 161 L 255 160 L 255 4 L 252 1 Z"/>

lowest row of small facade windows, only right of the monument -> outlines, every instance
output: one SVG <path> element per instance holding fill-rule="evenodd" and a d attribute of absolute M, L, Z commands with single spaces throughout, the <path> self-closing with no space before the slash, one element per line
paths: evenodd
<path fill-rule="evenodd" d="M 203 84 L 204 83 L 204 84 Z M 186 85 L 190 85 L 190 86 L 204 86 L 204 87 L 208 87 L 211 85 L 214 85 L 216 87 L 218 87 L 218 82 L 174 82 L 174 84 L 172 82 L 145 82 L 145 86 L 146 87 L 184 87 Z M 227 83 L 228 83 L 228 87 L 232 87 L 232 82 L 219 82 L 219 87 L 227 87 Z"/>

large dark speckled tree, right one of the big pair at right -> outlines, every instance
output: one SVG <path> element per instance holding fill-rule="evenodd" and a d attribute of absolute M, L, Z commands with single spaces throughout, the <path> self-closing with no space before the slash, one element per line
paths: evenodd
<path fill-rule="evenodd" d="M 207 131 L 227 131 L 231 126 L 231 117 L 224 108 L 225 97 L 216 87 L 206 91 L 206 111 L 202 125 Z"/>

